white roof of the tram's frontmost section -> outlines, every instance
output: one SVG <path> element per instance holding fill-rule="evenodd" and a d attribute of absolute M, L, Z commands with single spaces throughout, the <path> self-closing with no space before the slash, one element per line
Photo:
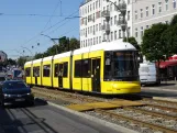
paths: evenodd
<path fill-rule="evenodd" d="M 119 41 L 112 41 L 112 42 L 103 42 L 101 44 L 97 44 L 97 45 L 92 45 L 92 46 L 88 46 L 88 47 L 84 47 L 80 49 L 76 49 L 74 51 L 74 55 L 78 55 L 81 53 L 89 53 L 89 52 L 93 52 L 93 51 L 136 51 L 136 48 L 126 42 L 122 42 L 122 40 Z"/>

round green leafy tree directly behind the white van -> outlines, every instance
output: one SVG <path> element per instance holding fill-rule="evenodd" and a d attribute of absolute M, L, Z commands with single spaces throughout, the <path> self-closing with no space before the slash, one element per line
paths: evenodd
<path fill-rule="evenodd" d="M 164 60 L 166 56 L 164 43 L 161 41 L 161 36 L 168 25 L 163 23 L 153 24 L 151 29 L 145 30 L 142 43 L 142 52 L 146 59 L 150 62 Z"/>

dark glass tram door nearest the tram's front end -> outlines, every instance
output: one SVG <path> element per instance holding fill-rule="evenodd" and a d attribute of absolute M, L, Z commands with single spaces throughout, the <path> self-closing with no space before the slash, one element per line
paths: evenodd
<path fill-rule="evenodd" d="M 92 91 L 100 92 L 100 58 L 96 58 L 91 60 L 91 82 L 92 82 Z"/>

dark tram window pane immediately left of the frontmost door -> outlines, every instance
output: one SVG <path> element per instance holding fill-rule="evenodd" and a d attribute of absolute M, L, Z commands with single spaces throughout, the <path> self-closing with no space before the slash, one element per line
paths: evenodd
<path fill-rule="evenodd" d="M 84 59 L 81 64 L 82 68 L 82 77 L 88 78 L 90 77 L 90 59 Z"/>

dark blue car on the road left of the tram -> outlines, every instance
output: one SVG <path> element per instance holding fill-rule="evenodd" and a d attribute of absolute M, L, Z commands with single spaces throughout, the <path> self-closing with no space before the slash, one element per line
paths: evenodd
<path fill-rule="evenodd" d="M 0 85 L 0 103 L 2 107 L 14 103 L 34 104 L 34 97 L 31 88 L 23 81 L 7 80 Z"/>

